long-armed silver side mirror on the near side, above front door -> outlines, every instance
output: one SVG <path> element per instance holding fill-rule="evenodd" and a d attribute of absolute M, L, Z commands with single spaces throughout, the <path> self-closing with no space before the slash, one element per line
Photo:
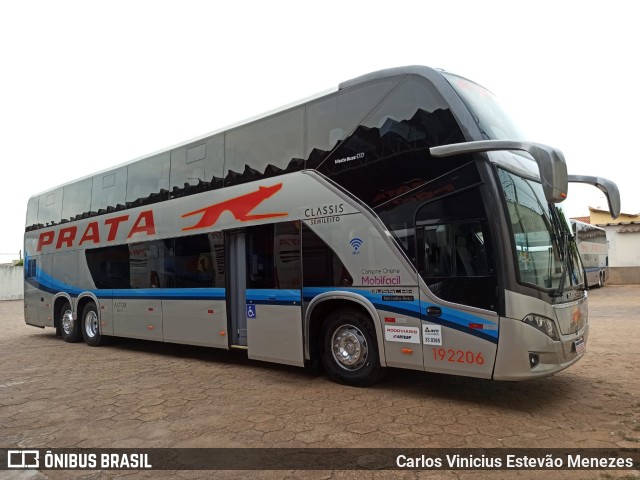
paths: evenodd
<path fill-rule="evenodd" d="M 434 157 L 449 157 L 462 153 L 484 153 L 496 150 L 527 152 L 538 164 L 542 190 L 547 202 L 560 203 L 567 198 L 567 163 L 562 152 L 553 147 L 519 140 L 480 140 L 432 147 L 429 152 Z"/>

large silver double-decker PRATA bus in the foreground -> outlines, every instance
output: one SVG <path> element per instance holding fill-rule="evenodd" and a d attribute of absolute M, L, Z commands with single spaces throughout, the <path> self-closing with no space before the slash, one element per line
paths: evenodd
<path fill-rule="evenodd" d="M 392 68 L 30 198 L 25 321 L 243 349 L 377 382 L 388 367 L 554 374 L 589 333 L 556 204 L 562 153 L 455 74 Z M 544 246 L 536 251 L 533 247 Z"/>

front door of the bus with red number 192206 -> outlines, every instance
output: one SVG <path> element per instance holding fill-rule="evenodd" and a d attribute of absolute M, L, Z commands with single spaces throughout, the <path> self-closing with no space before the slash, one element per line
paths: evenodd
<path fill-rule="evenodd" d="M 425 203 L 416 215 L 424 368 L 491 378 L 498 344 L 497 276 L 477 189 Z"/>

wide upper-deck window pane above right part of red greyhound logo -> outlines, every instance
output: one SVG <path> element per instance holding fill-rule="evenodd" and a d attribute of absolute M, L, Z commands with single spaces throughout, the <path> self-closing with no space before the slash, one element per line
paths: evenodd
<path fill-rule="evenodd" d="M 281 113 L 225 135 L 224 185 L 236 185 L 301 170 L 304 111 Z"/>

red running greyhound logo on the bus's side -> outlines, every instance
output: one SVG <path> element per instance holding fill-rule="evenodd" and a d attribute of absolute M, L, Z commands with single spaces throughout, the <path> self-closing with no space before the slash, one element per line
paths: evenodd
<path fill-rule="evenodd" d="M 216 203 L 200 210 L 185 213 L 182 218 L 191 217 L 192 215 L 202 214 L 200 221 L 190 227 L 185 227 L 182 230 L 197 230 L 200 228 L 212 227 L 222 215 L 222 212 L 230 212 L 236 220 L 240 222 L 248 222 L 251 220 L 261 220 L 263 218 L 274 217 L 286 217 L 287 213 L 261 213 L 256 215 L 249 215 L 255 210 L 258 205 L 264 202 L 267 198 L 275 195 L 282 188 L 282 183 L 272 185 L 271 187 L 258 187 L 255 192 L 247 193 L 239 197 L 225 200 L 224 202 Z"/>

